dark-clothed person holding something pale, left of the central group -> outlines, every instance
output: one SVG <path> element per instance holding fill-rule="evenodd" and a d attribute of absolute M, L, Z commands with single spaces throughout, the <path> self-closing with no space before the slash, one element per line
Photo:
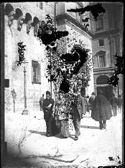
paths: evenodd
<path fill-rule="evenodd" d="M 52 133 L 51 130 L 51 120 L 53 113 L 54 100 L 51 98 L 51 93 L 46 91 L 46 99 L 43 100 L 43 112 L 44 119 L 46 122 L 46 135 L 50 136 Z"/>

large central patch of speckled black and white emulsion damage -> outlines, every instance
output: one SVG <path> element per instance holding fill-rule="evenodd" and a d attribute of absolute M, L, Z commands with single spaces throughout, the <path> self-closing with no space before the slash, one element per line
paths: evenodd
<path fill-rule="evenodd" d="M 86 87 L 90 80 L 89 50 L 77 44 L 66 53 L 65 36 L 68 34 L 67 31 L 56 31 L 52 19 L 47 15 L 46 22 L 42 22 L 37 35 L 46 45 L 48 58 L 46 77 L 55 87 L 55 114 L 63 119 L 69 118 L 71 103 L 77 103 L 80 89 Z M 58 102 L 60 96 L 63 105 Z"/>

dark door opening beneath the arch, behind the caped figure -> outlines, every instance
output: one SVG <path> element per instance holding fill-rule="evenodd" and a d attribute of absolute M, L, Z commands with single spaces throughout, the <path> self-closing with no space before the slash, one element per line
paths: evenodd
<path fill-rule="evenodd" d="M 113 93 L 113 87 L 112 86 L 100 86 L 97 87 L 97 92 L 98 90 L 102 90 L 104 96 L 109 100 L 112 97 Z"/>

